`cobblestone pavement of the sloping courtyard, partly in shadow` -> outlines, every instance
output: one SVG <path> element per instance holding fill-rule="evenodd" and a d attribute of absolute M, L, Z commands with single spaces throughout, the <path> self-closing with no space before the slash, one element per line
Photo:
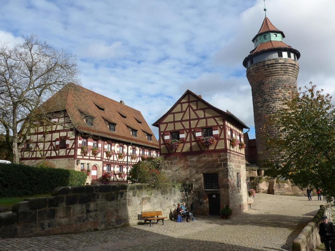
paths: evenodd
<path fill-rule="evenodd" d="M 252 208 L 237 217 L 196 217 L 82 234 L 0 239 L 0 250 L 291 250 L 292 241 L 322 202 L 313 197 L 256 194 Z"/>

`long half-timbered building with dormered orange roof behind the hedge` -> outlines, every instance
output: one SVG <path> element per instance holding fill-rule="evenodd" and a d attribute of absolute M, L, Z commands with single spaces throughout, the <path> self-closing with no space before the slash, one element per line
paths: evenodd
<path fill-rule="evenodd" d="M 48 126 L 37 122 L 20 162 L 45 160 L 57 168 L 90 169 L 87 183 L 112 172 L 111 181 L 126 182 L 141 156 L 158 156 L 158 142 L 141 112 L 78 85 L 64 87 L 43 104 Z M 119 177 L 121 176 L 121 177 Z"/>

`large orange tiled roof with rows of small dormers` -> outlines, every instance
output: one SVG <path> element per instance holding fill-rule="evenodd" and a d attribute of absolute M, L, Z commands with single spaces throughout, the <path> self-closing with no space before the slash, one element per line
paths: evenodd
<path fill-rule="evenodd" d="M 140 111 L 79 85 L 72 87 L 64 87 L 53 95 L 44 103 L 44 109 L 66 110 L 73 126 L 81 132 L 158 148 L 158 141 Z M 87 126 L 85 114 L 94 117 L 93 126 Z M 108 122 L 116 123 L 116 132 L 109 130 Z M 137 137 L 132 136 L 131 129 L 137 130 Z M 152 135 L 151 141 L 144 132 Z"/>

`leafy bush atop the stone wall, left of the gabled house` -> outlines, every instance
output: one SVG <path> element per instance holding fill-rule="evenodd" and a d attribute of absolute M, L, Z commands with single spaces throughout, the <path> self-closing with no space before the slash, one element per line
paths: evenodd
<path fill-rule="evenodd" d="M 147 183 L 156 188 L 162 188 L 167 184 L 164 175 L 166 166 L 166 161 L 163 157 L 142 158 L 130 169 L 128 180 L 131 183 Z"/>

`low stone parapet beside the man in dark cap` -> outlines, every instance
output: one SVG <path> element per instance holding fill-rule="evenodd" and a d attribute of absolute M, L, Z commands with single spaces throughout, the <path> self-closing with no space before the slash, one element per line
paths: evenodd
<path fill-rule="evenodd" d="M 320 205 L 320 210 L 300 232 L 292 244 L 293 251 L 313 251 L 320 246 L 319 225 L 329 204 Z"/>

